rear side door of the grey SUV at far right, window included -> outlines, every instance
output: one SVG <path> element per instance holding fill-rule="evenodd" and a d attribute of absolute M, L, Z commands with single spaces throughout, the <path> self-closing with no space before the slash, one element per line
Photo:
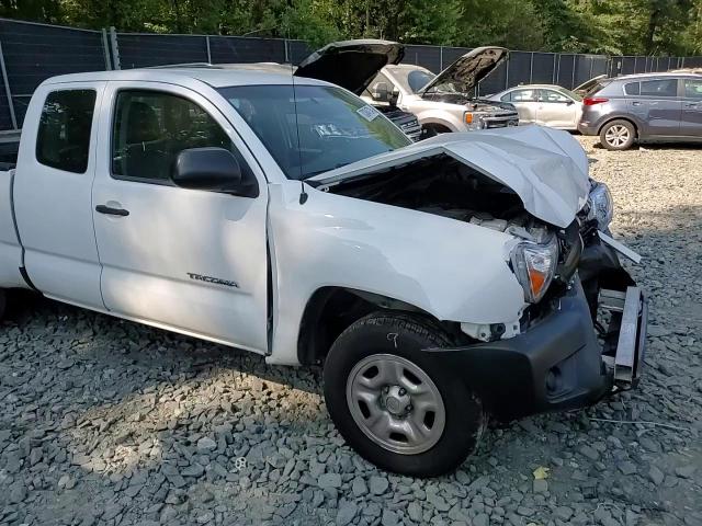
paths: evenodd
<path fill-rule="evenodd" d="M 642 80 L 638 84 L 639 94 L 631 99 L 629 104 L 644 121 L 645 135 L 679 135 L 682 101 L 678 98 L 678 79 Z"/>

